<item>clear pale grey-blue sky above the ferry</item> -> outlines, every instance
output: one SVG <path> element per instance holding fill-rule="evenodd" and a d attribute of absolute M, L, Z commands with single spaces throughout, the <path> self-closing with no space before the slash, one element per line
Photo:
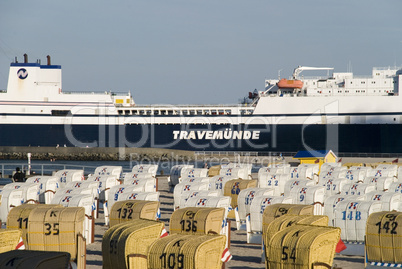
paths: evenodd
<path fill-rule="evenodd" d="M 27 53 L 62 66 L 63 91 L 235 104 L 299 65 L 402 66 L 401 10 L 401 0 L 1 0 L 0 89 Z"/>

